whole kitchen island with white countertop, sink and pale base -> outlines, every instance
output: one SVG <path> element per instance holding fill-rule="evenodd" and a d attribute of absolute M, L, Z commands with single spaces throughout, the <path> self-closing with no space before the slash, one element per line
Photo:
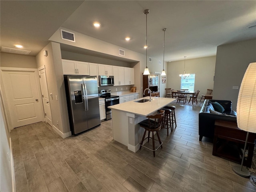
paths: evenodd
<path fill-rule="evenodd" d="M 149 98 L 144 97 L 109 106 L 112 109 L 113 139 L 126 145 L 132 152 L 136 152 L 140 148 L 140 141 L 144 133 L 144 128 L 140 127 L 138 123 L 146 119 L 146 116 L 154 114 L 157 110 L 176 100 L 175 98 L 152 97 L 151 102 L 136 102 Z"/>

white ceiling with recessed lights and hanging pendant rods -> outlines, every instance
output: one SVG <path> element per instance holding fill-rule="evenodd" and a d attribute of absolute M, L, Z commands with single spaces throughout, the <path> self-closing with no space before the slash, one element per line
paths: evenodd
<path fill-rule="evenodd" d="M 35 56 L 59 27 L 163 59 L 216 55 L 217 46 L 256 38 L 256 1 L 0 1 L 0 46 L 22 44 Z M 93 22 L 100 22 L 94 28 Z M 130 36 L 127 42 L 124 38 Z"/>

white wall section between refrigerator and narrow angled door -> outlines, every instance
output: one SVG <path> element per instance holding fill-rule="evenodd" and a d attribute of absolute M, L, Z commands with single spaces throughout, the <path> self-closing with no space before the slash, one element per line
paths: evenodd
<path fill-rule="evenodd" d="M 48 52 L 47 57 L 43 55 L 44 50 L 47 50 Z M 68 121 L 68 108 L 62 72 L 60 44 L 50 42 L 37 54 L 36 62 L 38 68 L 40 66 L 45 66 L 48 93 L 52 93 L 52 97 L 49 96 L 49 98 L 53 128 L 60 134 L 60 136 L 69 136 L 71 132 Z M 56 100 L 56 96 L 58 97 L 58 100 Z"/>

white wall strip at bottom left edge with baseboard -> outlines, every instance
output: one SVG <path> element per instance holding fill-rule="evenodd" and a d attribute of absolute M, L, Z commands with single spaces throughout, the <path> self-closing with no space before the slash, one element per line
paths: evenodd
<path fill-rule="evenodd" d="M 11 154 L 10 135 L 6 125 L 1 92 L 0 105 L 0 191 L 12 192 L 13 159 Z"/>

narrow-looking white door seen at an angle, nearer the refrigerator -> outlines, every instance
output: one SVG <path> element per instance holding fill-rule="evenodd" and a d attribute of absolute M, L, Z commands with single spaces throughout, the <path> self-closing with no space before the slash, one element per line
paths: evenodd
<path fill-rule="evenodd" d="M 40 87 L 41 87 L 42 100 L 43 100 L 43 106 L 44 106 L 45 120 L 50 126 L 52 126 L 52 113 L 51 113 L 51 107 L 50 107 L 45 69 L 44 67 L 39 68 L 38 71 L 40 75 L 39 79 L 40 79 Z"/>

